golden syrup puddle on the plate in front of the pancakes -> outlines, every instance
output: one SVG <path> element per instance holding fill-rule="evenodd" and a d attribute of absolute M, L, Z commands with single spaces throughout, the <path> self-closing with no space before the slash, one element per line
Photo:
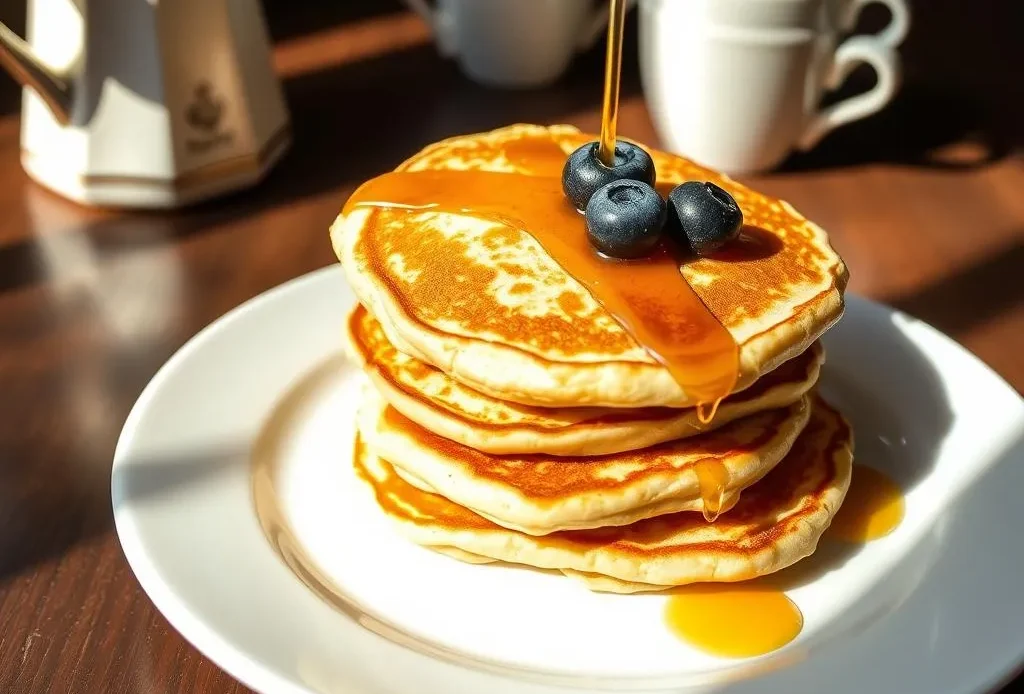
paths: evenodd
<path fill-rule="evenodd" d="M 757 582 L 677 589 L 665 606 L 665 620 L 679 639 L 726 658 L 770 653 L 804 626 L 804 615 L 785 593 Z"/>

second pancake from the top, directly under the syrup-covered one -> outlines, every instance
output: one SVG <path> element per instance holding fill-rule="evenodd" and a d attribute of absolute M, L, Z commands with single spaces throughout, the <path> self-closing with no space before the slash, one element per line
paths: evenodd
<path fill-rule="evenodd" d="M 494 453 L 603 456 L 713 431 L 765 409 L 792 404 L 815 384 L 820 343 L 722 401 L 700 422 L 695 408 L 536 407 L 484 395 L 388 342 L 362 307 L 349 315 L 348 348 L 374 387 L 399 413 L 435 434 Z"/>

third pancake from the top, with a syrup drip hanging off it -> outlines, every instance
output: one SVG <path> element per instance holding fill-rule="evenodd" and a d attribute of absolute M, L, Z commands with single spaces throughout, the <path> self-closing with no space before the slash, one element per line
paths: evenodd
<path fill-rule="evenodd" d="M 366 445 L 410 484 L 539 535 L 729 509 L 790 450 L 807 423 L 808 398 L 700 436 L 599 457 L 483 453 L 420 427 L 372 389 L 357 424 Z"/>

